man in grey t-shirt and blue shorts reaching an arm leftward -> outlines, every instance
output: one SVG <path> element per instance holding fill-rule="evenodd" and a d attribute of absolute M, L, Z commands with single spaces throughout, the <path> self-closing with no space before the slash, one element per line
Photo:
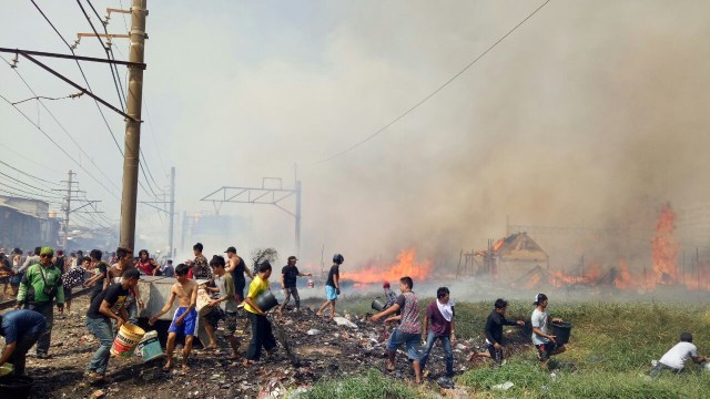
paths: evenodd
<path fill-rule="evenodd" d="M 392 372 L 395 370 L 395 355 L 397 354 L 397 349 L 404 344 L 407 348 L 407 357 L 412 360 L 415 382 L 422 383 L 422 367 L 419 364 L 422 359 L 419 350 L 422 323 L 419 321 L 419 299 L 412 291 L 413 286 L 414 282 L 412 282 L 412 277 L 402 277 L 399 279 L 402 295 L 397 297 L 397 301 L 388 309 L 374 315 L 372 319 L 373 321 L 378 321 L 385 316 L 402 310 L 399 316 L 385 319 L 385 321 L 399 320 L 399 326 L 395 328 L 387 341 L 387 371 Z"/>

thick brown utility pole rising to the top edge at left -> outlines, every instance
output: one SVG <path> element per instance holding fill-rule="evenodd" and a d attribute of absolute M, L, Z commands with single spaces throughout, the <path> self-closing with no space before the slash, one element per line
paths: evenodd
<path fill-rule="evenodd" d="M 145 17 L 148 0 L 133 0 L 131 7 L 131 44 L 129 61 L 143 63 L 145 44 Z M 141 106 L 143 103 L 143 70 L 129 66 L 129 93 L 123 150 L 123 193 L 121 196 L 121 246 L 133 248 L 135 243 L 135 211 L 138 200 L 138 173 L 141 147 Z"/>

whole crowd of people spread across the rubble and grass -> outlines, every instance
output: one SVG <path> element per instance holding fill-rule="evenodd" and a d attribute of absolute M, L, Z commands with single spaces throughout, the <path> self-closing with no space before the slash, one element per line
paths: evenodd
<path fill-rule="evenodd" d="M 233 359 L 241 360 L 243 366 L 250 366 L 261 359 L 262 350 L 271 355 L 276 349 L 277 342 L 272 331 L 272 321 L 267 317 L 270 309 L 263 308 L 264 304 L 260 303 L 260 298 L 270 290 L 272 265 L 268 262 L 262 262 L 255 265 L 253 273 L 234 247 L 229 247 L 224 252 L 226 259 L 224 256 L 214 255 L 209 262 L 202 254 L 202 244 L 195 244 L 193 252 L 194 259 L 173 267 L 170 260 L 165 265 L 160 265 L 145 249 L 140 250 L 139 256 L 134 258 L 132 249 L 123 247 L 119 247 L 108 256 L 99 249 L 93 249 L 88 256 L 83 256 L 82 253 L 72 253 L 69 257 L 64 257 L 61 250 L 54 253 L 51 247 L 38 247 L 24 258 L 22 252 L 16 248 L 12 252 L 11 264 L 4 250 L 0 250 L 0 272 L 2 273 L 0 282 L 6 284 L 6 288 L 7 285 L 10 286 L 9 289 L 16 296 L 17 308 L 0 316 L 0 335 L 6 340 L 0 366 L 11 362 L 13 372 L 22 375 L 26 355 L 34 345 L 37 345 L 39 359 L 49 358 L 54 306 L 60 314 L 65 308 L 69 310 L 73 287 L 93 287 L 90 293 L 85 326 L 99 341 L 99 348 L 87 365 L 85 376 L 97 381 L 104 380 L 116 329 L 126 323 L 136 324 L 139 309 L 144 308 L 138 283 L 141 276 L 155 275 L 175 277 L 170 297 L 162 309 L 152 315 L 149 320 L 149 324 L 155 324 L 173 308 L 178 300 L 178 309 L 168 329 L 165 348 L 168 360 L 163 367 L 165 371 L 174 366 L 173 352 L 178 338 L 184 339 L 181 351 L 182 368 L 189 368 L 197 325 L 204 326 L 209 336 L 209 342 L 204 347 L 206 351 L 219 348 L 215 330 L 221 321 Z M 281 306 L 274 307 L 274 311 L 278 315 L 283 314 L 291 297 L 295 300 L 295 310 L 301 309 L 296 280 L 297 277 L 311 276 L 311 274 L 301 273 L 296 266 L 297 260 L 295 256 L 290 256 L 287 264 L 282 268 L 281 288 L 285 300 Z M 336 303 L 341 295 L 341 267 L 344 262 L 343 255 L 333 256 L 333 265 L 325 283 L 325 303 L 316 311 L 316 316 L 324 319 L 335 317 Z M 251 278 L 246 295 L 244 295 L 245 276 Z M 414 293 L 414 282 L 410 277 L 403 276 L 399 279 L 399 295 L 394 293 L 388 282 L 384 283 L 383 288 L 387 301 L 382 311 L 372 316 L 372 321 L 384 320 L 396 324 L 386 344 L 386 369 L 394 371 L 396 352 L 404 347 L 412 364 L 415 381 L 422 382 L 427 375 L 426 366 L 429 356 L 438 340 L 442 342 L 445 355 L 445 377 L 453 377 L 452 346 L 456 345 L 457 337 L 455 304 L 450 299 L 449 289 L 447 287 L 437 289 L 436 299 L 426 306 L 422 318 L 418 295 Z M 197 297 L 201 289 L 211 297 L 211 300 L 197 311 Z M 550 334 L 548 324 L 562 320 L 548 316 L 548 304 L 549 300 L 545 294 L 536 295 L 535 308 L 530 316 L 532 330 L 530 339 L 544 369 L 547 369 L 551 356 L 562 354 L 567 349 L 564 344 L 557 341 L 555 335 Z M 487 350 L 473 351 L 467 359 L 470 361 L 476 357 L 490 358 L 493 366 L 499 367 L 505 355 L 504 326 L 523 326 L 525 323 L 506 319 L 508 303 L 503 298 L 496 299 L 484 331 Z M 324 313 L 326 309 L 327 314 Z M 240 351 L 240 342 L 235 335 L 240 318 L 247 319 L 252 328 L 251 341 L 244 352 Z M 424 348 L 420 346 L 422 342 Z M 702 362 L 708 358 L 698 356 L 697 348 L 692 345 L 692 336 L 683 332 L 680 342 L 663 355 L 650 375 L 655 377 L 663 371 L 679 372 L 688 360 Z"/>

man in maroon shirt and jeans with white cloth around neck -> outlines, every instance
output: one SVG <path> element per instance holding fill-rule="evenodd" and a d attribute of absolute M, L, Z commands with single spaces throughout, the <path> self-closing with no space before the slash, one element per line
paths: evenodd
<path fill-rule="evenodd" d="M 426 368 L 426 361 L 429 358 L 429 352 L 436 340 L 442 341 L 444 347 L 444 355 L 446 357 L 446 377 L 454 377 L 454 352 L 452 345 L 456 345 L 456 313 L 454 310 L 454 303 L 449 298 L 449 290 L 447 287 L 439 287 L 436 290 L 436 300 L 433 300 L 426 307 L 426 316 L 424 317 L 424 341 L 426 347 L 424 355 L 422 356 L 422 370 Z M 424 377 L 428 375 L 428 371 L 424 371 Z"/>

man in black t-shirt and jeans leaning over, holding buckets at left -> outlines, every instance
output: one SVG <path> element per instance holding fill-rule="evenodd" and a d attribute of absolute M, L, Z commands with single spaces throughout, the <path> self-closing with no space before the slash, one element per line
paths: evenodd
<path fill-rule="evenodd" d="M 125 308 L 129 291 L 138 285 L 140 278 L 140 272 L 136 268 L 130 268 L 121 276 L 121 283 L 112 284 L 91 301 L 89 311 L 87 311 L 87 329 L 99 339 L 100 346 L 89 361 L 84 376 L 93 380 L 105 378 L 111 357 L 111 345 L 114 339 L 111 319 L 116 321 L 116 326 L 121 330 L 129 318 Z"/>

